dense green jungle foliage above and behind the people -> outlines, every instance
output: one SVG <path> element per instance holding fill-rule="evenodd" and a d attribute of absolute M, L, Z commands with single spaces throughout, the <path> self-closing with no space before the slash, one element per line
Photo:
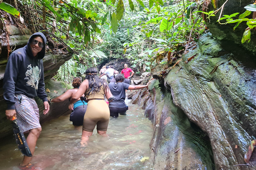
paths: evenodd
<path fill-rule="evenodd" d="M 7 12 L 18 16 L 33 31 L 46 31 L 62 44 L 73 58 L 58 71 L 65 81 L 84 74 L 87 67 L 113 58 L 129 58 L 132 67 L 150 71 L 156 66 L 167 73 L 205 31 L 205 21 L 216 11 L 207 11 L 212 1 L 162 0 L 15 0 Z M 4 9 L 1 5 L 0 8 Z M 224 15 L 226 23 L 247 21 L 250 29 L 242 41 L 250 41 L 255 21 L 246 19 L 250 11 Z M 219 8 L 221 9 L 221 7 Z M 5 10 L 6 11 L 6 10 Z M 203 16 L 203 17 L 202 17 Z M 3 20 L 3 19 L 2 19 Z M 250 23 L 249 23 L 250 22 Z M 66 75 L 65 77 L 63 75 Z"/>

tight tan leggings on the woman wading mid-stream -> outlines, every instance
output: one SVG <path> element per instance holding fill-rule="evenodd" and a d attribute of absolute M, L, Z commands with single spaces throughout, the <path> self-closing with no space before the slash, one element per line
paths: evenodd
<path fill-rule="evenodd" d="M 89 100 L 84 114 L 83 130 L 93 132 L 95 125 L 97 125 L 98 131 L 107 131 L 109 116 L 110 113 L 106 101 Z"/>

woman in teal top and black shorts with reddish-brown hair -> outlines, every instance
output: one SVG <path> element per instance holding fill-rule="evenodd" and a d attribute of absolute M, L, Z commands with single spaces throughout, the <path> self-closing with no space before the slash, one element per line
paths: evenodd
<path fill-rule="evenodd" d="M 65 101 L 67 99 L 71 99 L 71 96 L 74 95 L 79 86 L 82 84 L 82 79 L 81 78 L 74 78 L 72 86 L 74 89 L 68 89 L 64 94 L 60 95 L 59 97 L 51 99 L 52 103 L 59 103 L 61 101 Z M 82 95 L 84 97 L 84 95 Z M 87 109 L 87 103 L 85 101 L 82 101 L 78 99 L 76 103 L 70 104 L 68 107 L 71 111 L 73 111 L 70 114 L 69 120 L 73 122 L 74 126 L 82 126 L 83 121 L 84 121 L 84 114 Z"/>

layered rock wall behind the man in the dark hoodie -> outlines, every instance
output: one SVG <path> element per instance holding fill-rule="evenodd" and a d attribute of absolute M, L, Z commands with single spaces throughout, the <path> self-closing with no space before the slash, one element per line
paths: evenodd
<path fill-rule="evenodd" d="M 28 29 L 19 30 L 17 27 L 13 25 L 7 26 L 7 30 L 9 31 L 10 41 L 9 45 L 12 49 L 17 49 L 23 47 L 27 44 L 29 37 L 32 33 Z M 22 34 L 23 32 L 23 34 Z M 1 35 L 1 37 L 4 37 Z M 0 39 L 0 43 L 2 44 L 2 53 L 0 55 L 0 138 L 4 138 L 9 134 L 12 134 L 11 122 L 6 119 L 5 109 L 6 104 L 3 98 L 3 76 L 7 63 L 7 43 L 5 39 Z M 59 55 L 53 55 L 51 53 L 46 53 L 43 61 L 44 61 L 44 79 L 45 79 L 45 87 L 49 88 L 51 92 L 47 93 L 51 98 L 54 96 L 59 96 L 65 91 L 65 85 L 60 82 L 53 81 L 51 78 L 55 74 L 55 72 L 59 69 L 61 65 L 68 61 L 71 58 L 71 54 L 63 53 Z M 58 94 L 55 94 L 53 91 L 58 91 Z M 68 101 L 60 103 L 60 104 L 52 104 L 50 106 L 50 112 L 47 115 L 43 115 L 43 102 L 41 99 L 36 98 L 39 113 L 41 113 L 41 123 L 51 120 L 52 118 L 59 117 L 62 114 L 70 113 L 68 110 Z"/>

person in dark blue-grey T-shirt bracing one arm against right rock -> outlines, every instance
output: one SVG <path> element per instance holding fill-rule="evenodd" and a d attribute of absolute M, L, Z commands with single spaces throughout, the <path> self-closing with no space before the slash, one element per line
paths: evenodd
<path fill-rule="evenodd" d="M 117 74 L 115 77 L 116 82 L 110 82 L 109 83 L 109 89 L 111 91 L 111 94 L 113 95 L 114 99 L 112 102 L 109 103 L 109 111 L 110 116 L 112 117 L 118 117 L 118 114 L 120 115 L 126 115 L 126 111 L 128 107 L 125 104 L 125 90 L 138 90 L 142 88 L 147 88 L 150 81 L 147 83 L 147 85 L 138 85 L 133 86 L 127 83 L 124 83 L 124 75 L 123 74 Z"/>

